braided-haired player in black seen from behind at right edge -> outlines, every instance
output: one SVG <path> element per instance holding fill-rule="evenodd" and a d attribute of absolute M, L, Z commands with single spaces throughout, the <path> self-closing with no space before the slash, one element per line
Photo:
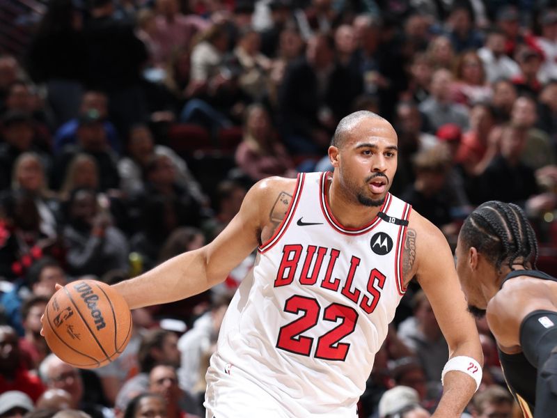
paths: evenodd
<path fill-rule="evenodd" d="M 483 203 L 464 221 L 456 256 L 469 311 L 487 313 L 524 416 L 556 417 L 557 279 L 535 270 L 538 244 L 524 212 L 512 203 Z"/>

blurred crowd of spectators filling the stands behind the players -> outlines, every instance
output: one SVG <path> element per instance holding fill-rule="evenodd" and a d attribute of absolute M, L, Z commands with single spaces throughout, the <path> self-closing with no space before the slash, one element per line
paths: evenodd
<path fill-rule="evenodd" d="M 391 192 L 451 245 L 479 203 L 517 203 L 557 274 L 556 1 L 44 3 L 13 21 L 26 46 L 0 51 L 0 418 L 205 416 L 208 359 L 254 256 L 211 291 L 135 310 L 123 355 L 92 371 L 39 334 L 54 284 L 113 284 L 205 245 L 256 181 L 331 170 L 352 111 L 393 123 Z M 485 370 L 466 415 L 515 417 L 478 329 Z M 428 417 L 447 359 L 411 284 L 360 417 Z"/>

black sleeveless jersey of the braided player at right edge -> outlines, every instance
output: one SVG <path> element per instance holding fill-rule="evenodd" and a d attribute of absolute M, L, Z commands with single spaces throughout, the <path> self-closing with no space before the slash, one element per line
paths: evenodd
<path fill-rule="evenodd" d="M 501 283 L 501 287 L 503 287 L 505 281 L 517 276 L 557 281 L 555 277 L 538 270 L 515 270 L 507 274 L 507 277 Z M 538 369 L 528 362 L 528 359 L 524 357 L 524 353 L 506 354 L 499 350 L 499 359 L 501 360 L 501 367 L 503 368 L 510 392 L 517 399 L 524 417 L 532 418 L 534 416 L 535 386 Z"/>

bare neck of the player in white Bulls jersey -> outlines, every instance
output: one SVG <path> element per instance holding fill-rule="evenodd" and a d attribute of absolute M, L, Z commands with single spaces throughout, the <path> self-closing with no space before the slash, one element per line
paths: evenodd
<path fill-rule="evenodd" d="M 381 206 L 365 206 L 354 200 L 354 196 L 348 196 L 342 186 L 332 180 L 325 193 L 332 215 L 347 228 L 357 229 L 370 224 L 381 208 Z"/>

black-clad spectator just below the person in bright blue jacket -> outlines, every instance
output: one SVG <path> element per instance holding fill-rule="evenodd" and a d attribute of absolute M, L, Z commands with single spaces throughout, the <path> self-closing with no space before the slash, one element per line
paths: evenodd
<path fill-rule="evenodd" d="M 91 155 L 97 162 L 100 191 L 118 187 L 120 180 L 116 168 L 116 155 L 107 144 L 107 132 L 104 130 L 102 116 L 95 110 L 79 116 L 77 144 L 68 144 L 56 157 L 52 178 L 54 189 L 60 189 L 70 161 L 78 153 Z"/>

